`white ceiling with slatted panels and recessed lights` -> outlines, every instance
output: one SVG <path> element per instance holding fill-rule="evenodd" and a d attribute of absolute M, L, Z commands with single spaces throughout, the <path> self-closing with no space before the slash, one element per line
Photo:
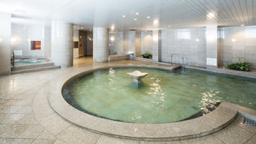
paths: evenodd
<path fill-rule="evenodd" d="M 113 31 L 256 25 L 256 0 L 0 0 L 0 12 L 12 23 L 62 20 Z"/>

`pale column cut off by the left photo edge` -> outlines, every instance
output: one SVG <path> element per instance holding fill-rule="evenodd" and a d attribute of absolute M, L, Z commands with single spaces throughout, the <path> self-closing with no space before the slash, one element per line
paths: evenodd
<path fill-rule="evenodd" d="M 0 76 L 10 75 L 11 14 L 0 12 Z"/>

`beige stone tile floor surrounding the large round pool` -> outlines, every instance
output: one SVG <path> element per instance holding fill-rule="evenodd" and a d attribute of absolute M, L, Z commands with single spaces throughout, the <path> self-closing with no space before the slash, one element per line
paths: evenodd
<path fill-rule="evenodd" d="M 94 63 L 92 58 L 74 60 L 74 67 L 0 77 L 0 143 L 256 143 L 256 129 L 238 116 L 225 129 L 189 140 L 148 142 L 96 134 L 70 124 L 48 102 L 50 83 L 71 72 L 116 64 L 150 64 L 142 61 Z M 168 67 L 168 66 L 166 66 Z"/>

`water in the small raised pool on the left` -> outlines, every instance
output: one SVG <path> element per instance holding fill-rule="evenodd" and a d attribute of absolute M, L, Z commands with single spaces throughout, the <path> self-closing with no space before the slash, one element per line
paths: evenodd
<path fill-rule="evenodd" d="M 50 61 L 50 59 L 47 59 L 47 58 L 15 59 L 15 66 L 22 66 L 22 65 L 27 65 L 27 64 L 41 64 L 41 63 L 48 62 L 48 61 Z"/>

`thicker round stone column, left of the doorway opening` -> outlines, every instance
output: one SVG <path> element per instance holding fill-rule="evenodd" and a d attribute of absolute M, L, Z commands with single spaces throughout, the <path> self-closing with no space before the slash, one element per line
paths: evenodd
<path fill-rule="evenodd" d="M 51 26 L 51 60 L 57 66 L 72 67 L 73 24 L 53 21 Z"/>

